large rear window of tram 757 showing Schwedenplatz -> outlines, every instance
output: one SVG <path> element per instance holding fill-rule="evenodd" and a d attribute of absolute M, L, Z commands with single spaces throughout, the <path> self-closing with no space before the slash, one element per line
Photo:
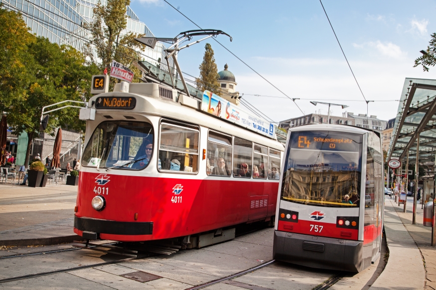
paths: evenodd
<path fill-rule="evenodd" d="M 281 197 L 303 204 L 359 207 L 361 160 L 360 134 L 292 132 Z"/>

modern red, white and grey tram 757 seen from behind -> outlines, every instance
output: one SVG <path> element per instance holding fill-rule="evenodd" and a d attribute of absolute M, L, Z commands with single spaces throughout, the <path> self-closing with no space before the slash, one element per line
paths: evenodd
<path fill-rule="evenodd" d="M 343 125 L 290 129 L 277 199 L 274 259 L 360 272 L 380 255 L 380 134 Z"/>

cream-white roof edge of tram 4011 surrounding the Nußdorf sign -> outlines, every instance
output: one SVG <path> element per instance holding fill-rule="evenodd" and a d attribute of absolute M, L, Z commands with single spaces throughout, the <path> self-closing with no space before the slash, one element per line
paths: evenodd
<path fill-rule="evenodd" d="M 157 84 L 141 84 L 141 85 L 154 85 Z M 284 151 L 284 145 L 277 139 L 269 138 L 267 136 L 257 134 L 237 124 L 233 124 L 224 121 L 221 118 L 214 117 L 210 114 L 204 113 L 199 109 L 195 109 L 190 106 L 182 105 L 180 102 L 173 101 L 171 99 L 165 99 L 162 97 L 155 97 L 149 95 L 124 93 L 124 92 L 111 92 L 95 95 L 89 99 L 89 105 L 95 108 L 95 101 L 98 97 L 135 97 L 136 106 L 134 109 L 99 109 L 98 113 L 110 114 L 115 113 L 117 115 L 129 114 L 141 114 L 147 113 L 151 115 L 161 116 L 168 119 L 179 120 L 186 123 L 197 124 L 210 129 L 222 132 L 224 134 L 241 137 L 252 142 L 268 146 L 273 149 Z M 197 101 L 197 100 L 196 100 Z M 262 137 L 262 138 L 261 138 Z"/>

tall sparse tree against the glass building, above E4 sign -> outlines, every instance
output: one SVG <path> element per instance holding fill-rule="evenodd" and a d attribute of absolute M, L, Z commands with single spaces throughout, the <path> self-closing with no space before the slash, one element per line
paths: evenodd
<path fill-rule="evenodd" d="M 92 35 L 88 56 L 93 63 L 97 64 L 100 71 L 104 71 L 105 68 L 109 69 L 112 60 L 115 60 L 129 67 L 135 74 L 133 82 L 139 82 L 141 73 L 133 63 L 140 59 L 137 49 L 144 49 L 145 46 L 135 41 L 134 38 L 141 37 L 143 34 L 132 32 L 122 34 L 127 26 L 126 11 L 129 4 L 130 0 L 108 0 L 106 5 L 102 5 L 99 0 L 93 10 L 94 21 L 85 23 L 83 26 L 90 30 Z M 93 45 L 95 48 L 92 47 Z M 115 79 L 111 79 L 111 87 L 114 82 Z"/>

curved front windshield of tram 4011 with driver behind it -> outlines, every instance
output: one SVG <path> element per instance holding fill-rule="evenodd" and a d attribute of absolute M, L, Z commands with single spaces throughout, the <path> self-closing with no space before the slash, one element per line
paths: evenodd
<path fill-rule="evenodd" d="M 147 122 L 106 121 L 94 130 L 82 166 L 141 170 L 153 153 L 153 127 Z"/>

